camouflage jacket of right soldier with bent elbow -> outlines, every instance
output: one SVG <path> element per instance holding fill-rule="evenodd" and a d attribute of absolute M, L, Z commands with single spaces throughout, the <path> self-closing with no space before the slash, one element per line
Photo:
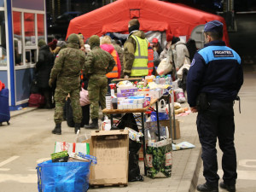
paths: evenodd
<path fill-rule="evenodd" d="M 92 75 L 103 76 L 111 72 L 114 65 L 115 61 L 113 60 L 113 56 L 107 51 L 96 46 L 93 47 L 86 56 L 84 73 L 88 78 L 90 78 Z"/>

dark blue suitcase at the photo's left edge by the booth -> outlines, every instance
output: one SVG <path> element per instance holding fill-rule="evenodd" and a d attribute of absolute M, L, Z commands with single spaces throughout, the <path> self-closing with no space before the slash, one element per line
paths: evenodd
<path fill-rule="evenodd" d="M 9 89 L 4 88 L 0 91 L 0 126 L 3 122 L 9 125 Z"/>

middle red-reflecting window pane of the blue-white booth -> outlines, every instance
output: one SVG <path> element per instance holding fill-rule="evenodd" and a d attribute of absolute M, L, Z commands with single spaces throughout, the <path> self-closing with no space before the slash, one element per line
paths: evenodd
<path fill-rule="evenodd" d="M 35 15 L 24 13 L 25 46 L 36 45 Z"/>

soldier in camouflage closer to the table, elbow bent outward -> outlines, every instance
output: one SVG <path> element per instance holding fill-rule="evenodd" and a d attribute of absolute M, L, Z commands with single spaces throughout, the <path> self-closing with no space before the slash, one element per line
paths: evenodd
<path fill-rule="evenodd" d="M 84 73 L 88 77 L 88 93 L 90 99 L 90 118 L 92 123 L 84 125 L 87 129 L 98 128 L 99 102 L 102 109 L 106 108 L 105 96 L 108 91 L 106 74 L 113 70 L 115 61 L 113 56 L 100 48 L 100 38 L 93 35 L 89 39 L 90 52 L 86 56 Z"/>

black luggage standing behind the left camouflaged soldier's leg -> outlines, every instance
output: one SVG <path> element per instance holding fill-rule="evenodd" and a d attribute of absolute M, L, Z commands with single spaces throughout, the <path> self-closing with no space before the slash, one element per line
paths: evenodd
<path fill-rule="evenodd" d="M 67 102 L 65 104 L 66 109 L 66 119 L 67 119 L 67 126 L 69 127 L 74 127 L 74 122 L 73 122 L 73 110 L 71 107 L 71 100 L 68 97 Z M 90 121 L 90 105 L 85 105 L 82 108 L 82 121 L 81 121 L 81 127 L 84 127 L 84 125 L 89 125 Z M 65 116 L 65 115 L 64 115 Z"/>

